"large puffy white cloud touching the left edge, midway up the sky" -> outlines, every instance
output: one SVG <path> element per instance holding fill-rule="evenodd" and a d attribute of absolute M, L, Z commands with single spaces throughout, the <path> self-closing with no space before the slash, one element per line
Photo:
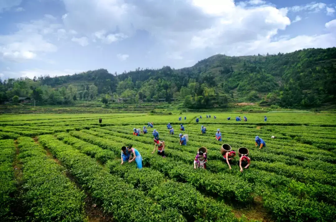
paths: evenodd
<path fill-rule="evenodd" d="M 45 20 L 17 24 L 16 33 L 0 35 L 0 58 L 23 62 L 38 58 L 39 52 L 55 52 L 57 47 L 47 41 L 44 35 L 52 33 L 57 26 Z"/>

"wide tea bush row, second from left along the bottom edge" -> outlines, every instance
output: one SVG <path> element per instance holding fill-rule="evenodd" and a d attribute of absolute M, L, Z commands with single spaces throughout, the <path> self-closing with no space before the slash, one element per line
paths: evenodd
<path fill-rule="evenodd" d="M 19 137 L 23 163 L 20 198 L 31 221 L 84 221 L 85 194 L 64 174 L 46 151 L 30 137 Z"/>

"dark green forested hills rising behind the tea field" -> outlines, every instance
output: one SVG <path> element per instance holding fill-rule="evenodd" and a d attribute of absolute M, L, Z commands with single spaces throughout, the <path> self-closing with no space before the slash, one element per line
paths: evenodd
<path fill-rule="evenodd" d="M 196 109 L 226 106 L 229 101 L 319 107 L 336 101 L 336 48 L 277 55 L 214 55 L 182 69 L 137 68 L 120 75 L 99 69 L 34 80 L 9 79 L 0 87 L 2 100 L 30 96 L 49 104 L 110 97 L 129 103 L 174 98 Z"/>

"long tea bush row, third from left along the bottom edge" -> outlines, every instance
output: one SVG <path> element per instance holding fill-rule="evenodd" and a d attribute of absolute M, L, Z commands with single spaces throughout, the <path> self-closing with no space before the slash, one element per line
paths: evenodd
<path fill-rule="evenodd" d="M 52 135 L 42 135 L 39 141 L 116 221 L 186 221 L 176 209 L 163 210 L 161 205 L 145 197 L 143 191 L 111 175 L 95 160 Z"/>

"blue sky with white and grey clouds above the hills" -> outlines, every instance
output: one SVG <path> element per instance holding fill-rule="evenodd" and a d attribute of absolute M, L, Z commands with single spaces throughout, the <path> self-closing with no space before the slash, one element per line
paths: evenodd
<path fill-rule="evenodd" d="M 334 47 L 335 11 L 335 0 L 0 0 L 0 78 Z"/>

